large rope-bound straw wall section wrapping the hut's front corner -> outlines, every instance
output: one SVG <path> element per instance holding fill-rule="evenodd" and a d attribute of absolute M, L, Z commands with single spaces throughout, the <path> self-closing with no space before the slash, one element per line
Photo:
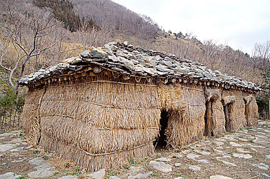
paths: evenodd
<path fill-rule="evenodd" d="M 159 132 L 157 87 L 102 74 L 49 86 L 40 106 L 40 146 L 90 171 L 151 154 Z"/>

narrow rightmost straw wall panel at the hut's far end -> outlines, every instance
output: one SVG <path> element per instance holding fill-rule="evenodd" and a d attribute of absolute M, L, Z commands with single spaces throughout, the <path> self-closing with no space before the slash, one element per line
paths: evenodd
<path fill-rule="evenodd" d="M 245 100 L 245 116 L 247 119 L 247 125 L 252 126 L 257 123 L 259 119 L 258 105 L 256 98 L 253 95 L 244 97 Z"/>

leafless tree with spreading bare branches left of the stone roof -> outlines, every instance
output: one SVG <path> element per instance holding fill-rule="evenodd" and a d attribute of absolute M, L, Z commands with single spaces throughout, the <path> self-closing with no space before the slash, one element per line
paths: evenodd
<path fill-rule="evenodd" d="M 17 5 L 17 1 L 1 2 L 0 31 L 2 35 L 2 46 L 0 65 L 9 72 L 9 83 L 15 87 L 18 93 L 18 85 L 14 85 L 12 77 L 19 70 L 18 77 L 24 75 L 26 63 L 39 55 L 48 56 L 47 51 L 60 42 L 64 33 L 61 25 L 55 20 L 48 10 L 40 10 L 25 2 Z M 16 6 L 15 6 L 16 4 Z M 5 44 L 5 45 L 4 45 Z M 16 57 L 13 65 L 9 67 L 4 61 L 5 54 L 13 49 Z"/>

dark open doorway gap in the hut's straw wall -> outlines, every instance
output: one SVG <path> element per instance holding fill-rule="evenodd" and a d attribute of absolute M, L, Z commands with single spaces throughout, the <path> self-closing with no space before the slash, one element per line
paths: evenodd
<path fill-rule="evenodd" d="M 154 142 L 154 146 L 156 150 L 165 149 L 167 142 L 166 142 L 166 128 L 168 127 L 168 119 L 169 119 L 169 112 L 166 110 L 161 111 L 161 118 L 160 118 L 160 134 L 156 141 Z"/>

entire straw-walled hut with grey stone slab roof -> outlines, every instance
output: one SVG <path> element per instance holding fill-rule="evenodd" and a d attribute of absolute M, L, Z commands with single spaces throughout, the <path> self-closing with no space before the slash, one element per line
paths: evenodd
<path fill-rule="evenodd" d="M 154 145 L 183 147 L 258 118 L 254 83 L 123 43 L 86 50 L 19 84 L 29 87 L 29 142 L 91 171 L 150 155 Z"/>

